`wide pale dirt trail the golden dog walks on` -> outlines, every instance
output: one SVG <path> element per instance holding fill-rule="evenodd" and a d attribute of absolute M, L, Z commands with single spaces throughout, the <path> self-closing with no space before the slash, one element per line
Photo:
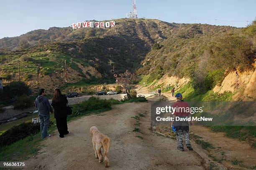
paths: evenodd
<path fill-rule="evenodd" d="M 27 161 L 28 170 L 100 170 L 92 148 L 90 127 L 96 126 L 111 139 L 109 151 L 110 170 L 154 169 L 154 170 L 204 170 L 202 158 L 195 151 L 177 150 L 176 141 L 151 132 L 149 102 L 115 105 L 113 110 L 100 115 L 90 115 L 68 123 L 70 134 L 59 138 L 58 132 L 42 142 L 40 153 Z M 131 118 L 147 112 L 141 117 L 141 133 L 133 132 L 136 120 Z M 136 136 L 141 136 L 143 139 Z"/>

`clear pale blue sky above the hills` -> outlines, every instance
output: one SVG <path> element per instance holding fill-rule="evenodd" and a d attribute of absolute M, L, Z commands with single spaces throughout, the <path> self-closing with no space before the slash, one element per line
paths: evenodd
<path fill-rule="evenodd" d="M 246 27 L 256 17 L 256 0 L 136 0 L 136 5 L 139 18 L 169 23 Z M 0 0 L 0 38 L 84 20 L 125 18 L 130 11 L 133 0 Z"/>

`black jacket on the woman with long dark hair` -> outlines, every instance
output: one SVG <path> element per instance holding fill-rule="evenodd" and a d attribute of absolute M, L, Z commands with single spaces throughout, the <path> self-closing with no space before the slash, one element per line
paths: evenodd
<path fill-rule="evenodd" d="M 51 102 L 52 107 L 54 107 L 54 117 L 64 118 L 67 117 L 67 97 L 62 95 L 59 102 Z"/>

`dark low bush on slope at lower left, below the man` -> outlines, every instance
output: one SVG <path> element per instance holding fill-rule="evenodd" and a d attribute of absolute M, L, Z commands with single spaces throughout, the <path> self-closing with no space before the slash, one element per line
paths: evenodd
<path fill-rule="evenodd" d="M 34 135 L 40 131 L 39 123 L 22 123 L 18 126 L 13 126 L 10 130 L 5 131 L 0 136 L 0 147 L 10 145 L 18 140 L 24 139 L 30 135 Z"/>

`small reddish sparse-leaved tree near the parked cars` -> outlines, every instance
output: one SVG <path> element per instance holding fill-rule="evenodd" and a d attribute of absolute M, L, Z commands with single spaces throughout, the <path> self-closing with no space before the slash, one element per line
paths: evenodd
<path fill-rule="evenodd" d="M 125 88 L 125 92 L 127 93 L 128 99 L 131 99 L 131 83 L 135 78 L 135 74 L 126 70 L 124 73 L 118 75 L 114 75 L 116 82 L 119 85 L 122 85 Z"/>

